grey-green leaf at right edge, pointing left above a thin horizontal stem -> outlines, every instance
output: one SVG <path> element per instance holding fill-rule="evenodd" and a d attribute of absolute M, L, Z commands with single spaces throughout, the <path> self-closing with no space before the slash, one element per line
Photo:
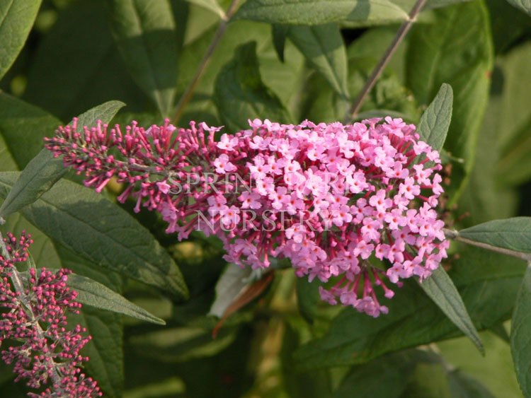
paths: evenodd
<path fill-rule="evenodd" d="M 515 252 L 531 253 L 531 217 L 488 221 L 460 230 L 459 236 Z"/>

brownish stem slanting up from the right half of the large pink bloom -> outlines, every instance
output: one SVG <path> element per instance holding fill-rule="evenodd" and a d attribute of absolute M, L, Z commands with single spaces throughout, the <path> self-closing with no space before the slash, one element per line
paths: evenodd
<path fill-rule="evenodd" d="M 389 47 L 387 47 L 387 50 L 384 52 L 382 59 L 379 60 L 377 66 L 372 71 L 370 78 L 367 80 L 367 83 L 365 83 L 365 86 L 362 88 L 360 95 L 358 95 L 358 98 L 355 100 L 355 103 L 353 103 L 352 107 L 350 107 L 348 115 L 346 116 L 344 121 L 345 123 L 350 122 L 351 119 L 354 119 L 358 115 L 363 101 L 370 93 L 370 90 L 372 90 L 372 88 L 375 86 L 376 81 L 384 71 L 385 66 L 387 66 L 387 64 L 391 60 L 391 57 L 396 51 L 396 48 L 398 48 L 399 44 L 402 42 L 402 40 L 404 40 L 404 37 L 406 37 L 406 33 L 408 33 L 409 29 L 411 28 L 411 25 L 413 25 L 413 22 L 415 22 L 418 13 L 421 12 L 424 4 L 426 4 L 426 1 L 427 0 L 417 0 L 413 8 L 411 8 L 411 11 L 409 11 L 408 20 L 402 23 L 398 32 L 396 32 L 393 41 L 391 42 Z"/>

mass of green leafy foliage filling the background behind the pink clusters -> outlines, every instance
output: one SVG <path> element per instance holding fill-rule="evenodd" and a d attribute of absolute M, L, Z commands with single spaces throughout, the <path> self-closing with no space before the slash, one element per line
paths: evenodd
<path fill-rule="evenodd" d="M 243 2 L 176 122 L 233 131 L 255 117 L 343 120 L 414 2 Z M 219 242 L 194 235 L 178 243 L 155 214 L 117 204 L 121 187 L 95 194 L 41 152 L 42 138 L 77 115 L 86 124 L 173 117 L 228 7 L 226 0 L 0 1 L 0 197 L 11 213 L 1 230 L 29 230 L 35 262 L 73 269 L 80 290 L 93 291 L 93 281 L 108 288 L 96 289 L 104 309 L 88 297 L 74 320 L 93 336 L 86 371 L 105 396 L 531 394 L 525 262 L 452 245 L 444 266 L 485 356 L 416 283 L 375 320 L 321 303 L 316 282 L 296 280 L 290 269 L 275 271 L 272 285 L 213 339 L 217 319 L 207 314 L 226 267 Z M 452 87 L 442 151 L 452 228 L 531 216 L 530 65 L 529 1 L 430 0 L 360 110 L 358 119 L 418 123 L 442 84 Z M 9 197 L 24 169 L 23 189 Z M 531 252 L 529 218 L 520 221 L 509 248 Z M 467 236 L 503 246 L 481 228 Z M 511 344 L 522 390 L 508 336 L 517 295 L 520 332 Z M 159 318 L 166 325 L 155 324 Z M 5 365 L 0 394 L 25 394 Z"/>

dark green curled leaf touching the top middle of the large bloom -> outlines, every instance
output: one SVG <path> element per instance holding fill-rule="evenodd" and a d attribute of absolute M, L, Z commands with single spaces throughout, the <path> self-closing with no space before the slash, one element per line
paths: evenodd
<path fill-rule="evenodd" d="M 238 47 L 234 59 L 219 72 L 215 103 L 219 117 L 231 131 L 249 127 L 248 119 L 268 118 L 280 123 L 291 119 L 278 97 L 262 81 L 256 42 Z"/>

